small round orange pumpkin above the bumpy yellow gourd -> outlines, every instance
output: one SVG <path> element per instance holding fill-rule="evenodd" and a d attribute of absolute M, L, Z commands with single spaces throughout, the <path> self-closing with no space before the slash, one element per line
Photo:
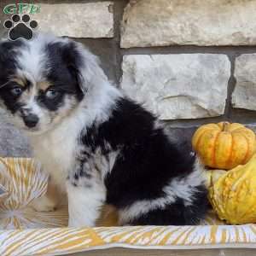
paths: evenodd
<path fill-rule="evenodd" d="M 255 133 L 237 123 L 202 125 L 195 131 L 192 145 L 206 166 L 229 170 L 251 159 Z"/>

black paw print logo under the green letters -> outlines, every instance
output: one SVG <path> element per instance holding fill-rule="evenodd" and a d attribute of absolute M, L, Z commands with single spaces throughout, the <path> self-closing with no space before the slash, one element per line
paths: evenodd
<path fill-rule="evenodd" d="M 30 20 L 29 15 L 13 15 L 11 20 L 5 20 L 3 26 L 9 29 L 9 38 L 16 40 L 18 38 L 25 38 L 30 40 L 33 37 L 33 29 L 38 27 L 36 20 Z"/>

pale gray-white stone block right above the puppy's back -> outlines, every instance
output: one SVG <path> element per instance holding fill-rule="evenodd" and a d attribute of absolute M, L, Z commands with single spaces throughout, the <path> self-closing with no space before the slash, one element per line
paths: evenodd
<path fill-rule="evenodd" d="M 226 55 L 125 55 L 121 88 L 160 119 L 224 113 L 230 61 Z"/>

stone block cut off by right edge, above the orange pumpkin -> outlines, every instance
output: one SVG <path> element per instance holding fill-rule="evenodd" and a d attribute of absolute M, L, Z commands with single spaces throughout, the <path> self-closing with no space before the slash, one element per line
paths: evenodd
<path fill-rule="evenodd" d="M 256 110 L 256 54 L 240 55 L 236 58 L 235 78 L 233 107 Z"/>

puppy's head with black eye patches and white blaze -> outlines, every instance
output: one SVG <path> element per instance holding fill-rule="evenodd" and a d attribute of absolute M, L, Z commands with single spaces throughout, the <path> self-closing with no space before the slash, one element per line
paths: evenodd
<path fill-rule="evenodd" d="M 95 70 L 104 76 L 96 57 L 67 38 L 0 41 L 0 107 L 19 128 L 48 131 L 79 107 Z"/>

